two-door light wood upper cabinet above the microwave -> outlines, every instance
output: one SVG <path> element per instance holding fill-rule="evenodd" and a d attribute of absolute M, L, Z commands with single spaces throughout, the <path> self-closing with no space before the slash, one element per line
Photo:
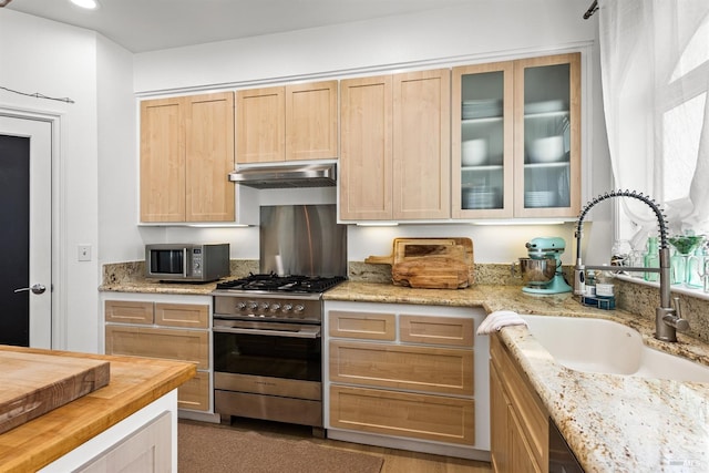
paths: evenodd
<path fill-rule="evenodd" d="M 141 222 L 233 222 L 234 93 L 141 103 Z"/>

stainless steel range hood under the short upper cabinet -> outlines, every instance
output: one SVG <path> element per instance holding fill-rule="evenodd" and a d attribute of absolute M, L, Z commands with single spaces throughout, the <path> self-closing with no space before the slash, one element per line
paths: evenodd
<path fill-rule="evenodd" d="M 335 163 L 309 163 L 243 167 L 229 173 L 229 181 L 258 189 L 332 187 L 337 183 L 337 166 Z"/>

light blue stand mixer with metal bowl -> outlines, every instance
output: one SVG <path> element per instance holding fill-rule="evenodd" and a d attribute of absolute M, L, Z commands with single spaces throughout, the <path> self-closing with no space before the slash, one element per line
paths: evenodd
<path fill-rule="evenodd" d="M 537 237 L 526 243 L 528 258 L 520 258 L 522 277 L 526 284 L 522 288 L 530 294 L 571 292 L 572 287 L 564 280 L 561 255 L 566 241 L 561 237 Z"/>

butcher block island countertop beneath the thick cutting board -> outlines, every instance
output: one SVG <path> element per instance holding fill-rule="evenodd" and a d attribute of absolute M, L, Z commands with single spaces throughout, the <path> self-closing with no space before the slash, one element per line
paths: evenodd
<path fill-rule="evenodd" d="M 0 351 L 110 362 L 107 385 L 0 435 L 0 470 L 37 471 L 193 378 L 178 361 L 0 346 Z"/>

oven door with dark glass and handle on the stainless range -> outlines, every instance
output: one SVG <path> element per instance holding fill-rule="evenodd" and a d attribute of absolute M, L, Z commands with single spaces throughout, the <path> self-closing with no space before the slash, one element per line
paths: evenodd
<path fill-rule="evenodd" d="M 214 320 L 214 371 L 322 381 L 319 325 Z"/>

